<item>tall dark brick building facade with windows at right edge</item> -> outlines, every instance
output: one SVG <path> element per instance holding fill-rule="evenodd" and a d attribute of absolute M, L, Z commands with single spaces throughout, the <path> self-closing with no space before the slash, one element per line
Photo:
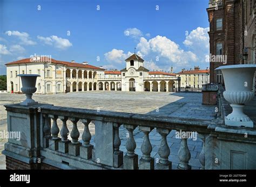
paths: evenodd
<path fill-rule="evenodd" d="M 255 6 L 256 0 L 209 1 L 210 82 L 224 84 L 219 66 L 255 64 Z"/>

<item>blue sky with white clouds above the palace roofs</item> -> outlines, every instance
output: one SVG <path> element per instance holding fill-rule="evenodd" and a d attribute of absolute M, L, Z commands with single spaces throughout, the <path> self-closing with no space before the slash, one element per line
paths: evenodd
<path fill-rule="evenodd" d="M 0 0 L 0 74 L 31 56 L 121 70 L 135 52 L 151 71 L 209 66 L 208 0 Z"/>

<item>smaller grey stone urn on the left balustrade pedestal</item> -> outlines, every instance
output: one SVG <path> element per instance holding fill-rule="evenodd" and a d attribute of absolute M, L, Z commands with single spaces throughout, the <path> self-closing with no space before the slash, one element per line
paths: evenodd
<path fill-rule="evenodd" d="M 37 74 L 18 74 L 22 80 L 22 92 L 26 94 L 26 99 L 21 102 L 21 105 L 36 105 L 38 102 L 32 99 L 32 94 L 36 92 L 36 79 L 40 77 Z"/>

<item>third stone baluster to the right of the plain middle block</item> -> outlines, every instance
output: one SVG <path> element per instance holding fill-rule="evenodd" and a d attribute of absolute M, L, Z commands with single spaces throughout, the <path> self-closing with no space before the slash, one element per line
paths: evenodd
<path fill-rule="evenodd" d="M 153 130 L 152 127 L 139 126 L 139 129 L 144 133 L 144 139 L 142 144 L 143 156 L 139 160 L 139 169 L 154 169 L 154 158 L 150 156 L 152 146 L 149 140 L 149 133 Z"/>

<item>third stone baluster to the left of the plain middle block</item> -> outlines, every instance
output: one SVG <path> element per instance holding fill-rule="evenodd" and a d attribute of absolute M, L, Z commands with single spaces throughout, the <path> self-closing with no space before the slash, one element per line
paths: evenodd
<path fill-rule="evenodd" d="M 60 130 L 60 136 L 62 136 L 62 140 L 59 141 L 59 152 L 68 153 L 70 143 L 70 140 L 68 139 L 69 129 L 66 126 L 66 121 L 68 120 L 68 117 L 59 116 L 59 119 L 62 120 L 62 129 Z"/>

